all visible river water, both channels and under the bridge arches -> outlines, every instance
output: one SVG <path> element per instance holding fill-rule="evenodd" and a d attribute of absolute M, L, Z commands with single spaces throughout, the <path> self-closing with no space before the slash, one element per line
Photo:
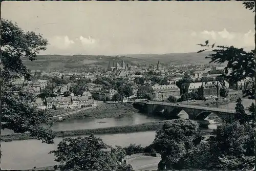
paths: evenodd
<path fill-rule="evenodd" d="M 181 111 L 178 115 L 180 118 L 187 119 L 188 115 Z M 58 122 L 53 125 L 54 131 L 65 130 L 81 130 L 81 129 L 97 129 L 100 127 L 135 125 L 146 122 L 161 121 L 162 118 L 146 116 L 140 113 L 134 113 L 131 116 L 121 118 L 104 118 L 104 119 L 74 119 L 69 121 Z M 212 120 L 205 119 L 202 123 L 208 125 L 208 129 L 216 129 L 217 124 Z M 10 134 L 10 130 L 2 131 L 2 134 Z M 155 138 L 155 131 L 137 132 L 128 134 L 107 134 L 96 135 L 103 139 L 106 144 L 115 146 L 127 146 L 130 143 L 141 144 L 142 146 L 150 145 Z M 22 141 L 1 142 L 2 169 L 29 169 L 36 167 L 44 167 L 55 165 L 54 156 L 48 154 L 56 149 L 57 144 L 62 138 L 55 138 L 55 144 L 45 144 L 41 141 L 30 139 Z"/>

